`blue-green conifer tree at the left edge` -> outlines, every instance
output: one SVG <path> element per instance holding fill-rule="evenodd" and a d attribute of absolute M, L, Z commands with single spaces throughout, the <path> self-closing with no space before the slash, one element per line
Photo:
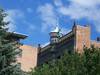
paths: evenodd
<path fill-rule="evenodd" d="M 21 70 L 16 63 L 16 57 L 20 53 L 20 43 L 8 39 L 9 22 L 4 21 L 6 16 L 5 11 L 0 9 L 0 75 L 22 75 L 18 74 Z"/>

